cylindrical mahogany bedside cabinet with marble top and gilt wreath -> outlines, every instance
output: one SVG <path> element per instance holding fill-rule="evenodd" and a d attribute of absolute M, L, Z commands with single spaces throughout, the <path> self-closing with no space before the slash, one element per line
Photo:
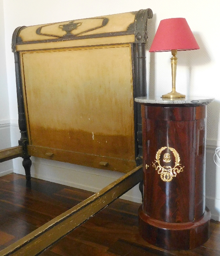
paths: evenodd
<path fill-rule="evenodd" d="M 142 104 L 144 201 L 139 230 L 155 246 L 187 250 L 209 238 L 206 113 L 213 98 L 135 98 Z"/>

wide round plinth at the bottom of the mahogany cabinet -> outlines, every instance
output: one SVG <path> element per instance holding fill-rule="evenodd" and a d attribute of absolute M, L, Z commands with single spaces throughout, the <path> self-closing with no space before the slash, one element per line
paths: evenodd
<path fill-rule="evenodd" d="M 209 239 L 211 213 L 208 208 L 196 222 L 170 223 L 153 219 L 139 211 L 139 232 L 148 243 L 167 250 L 189 250 L 204 244 Z"/>

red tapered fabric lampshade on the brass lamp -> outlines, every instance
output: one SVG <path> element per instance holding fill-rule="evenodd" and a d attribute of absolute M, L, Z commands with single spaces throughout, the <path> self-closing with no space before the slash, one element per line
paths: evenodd
<path fill-rule="evenodd" d="M 158 26 L 149 52 L 199 49 L 185 18 L 163 19 Z"/>

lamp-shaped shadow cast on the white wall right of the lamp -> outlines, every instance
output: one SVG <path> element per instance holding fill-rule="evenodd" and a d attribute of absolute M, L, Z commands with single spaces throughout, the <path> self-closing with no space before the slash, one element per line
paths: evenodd
<path fill-rule="evenodd" d="M 177 58 L 178 63 L 177 66 L 186 66 L 188 68 L 188 81 L 187 81 L 187 95 L 192 95 L 192 76 L 193 76 L 193 67 L 206 65 L 211 61 L 211 58 L 206 50 L 206 47 L 201 39 L 199 33 L 194 33 L 194 37 L 200 47 L 199 50 L 192 51 L 178 51 Z M 177 67 L 178 68 L 178 67 Z M 209 95 L 208 95 L 209 96 Z"/>

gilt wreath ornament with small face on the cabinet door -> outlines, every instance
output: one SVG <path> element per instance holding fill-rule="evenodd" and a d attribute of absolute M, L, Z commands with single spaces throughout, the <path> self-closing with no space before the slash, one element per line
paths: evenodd
<path fill-rule="evenodd" d="M 167 166 L 167 165 L 162 166 L 160 163 L 161 154 L 167 148 L 173 153 L 175 157 L 174 167 Z M 161 179 L 165 182 L 170 182 L 173 179 L 173 177 L 176 177 L 177 173 L 180 173 L 183 171 L 184 166 L 182 167 L 180 164 L 180 156 L 177 153 L 177 151 L 172 147 L 161 147 L 161 149 L 157 151 L 155 158 L 156 158 L 154 160 L 155 162 L 152 162 L 153 163 L 152 166 L 155 168 L 157 173 L 160 174 Z M 171 161 L 171 156 L 169 153 L 164 153 L 163 161 L 165 163 L 168 163 Z"/>

